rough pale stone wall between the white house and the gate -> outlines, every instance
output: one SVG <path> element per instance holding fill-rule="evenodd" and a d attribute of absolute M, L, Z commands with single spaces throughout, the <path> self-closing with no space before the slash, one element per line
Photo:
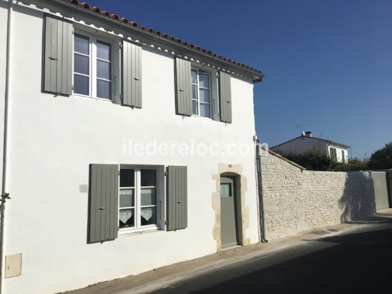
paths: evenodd
<path fill-rule="evenodd" d="M 302 171 L 262 151 L 267 239 L 375 213 L 370 172 Z"/>

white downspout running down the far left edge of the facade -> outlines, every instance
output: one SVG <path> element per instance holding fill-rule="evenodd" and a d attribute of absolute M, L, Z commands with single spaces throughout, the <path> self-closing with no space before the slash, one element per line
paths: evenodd
<path fill-rule="evenodd" d="M 5 95 L 4 95 L 4 137 L 3 137 L 3 175 L 1 194 L 6 192 L 6 164 L 7 164 L 7 133 L 8 133 L 8 100 L 10 94 L 10 47 L 11 47 L 11 17 L 12 17 L 12 1 L 8 0 L 8 15 L 7 15 L 7 45 L 6 45 L 6 61 L 5 61 Z M 0 294 L 4 291 L 4 275 L 5 275 L 5 205 L 1 207 L 1 223 L 0 223 Z"/>

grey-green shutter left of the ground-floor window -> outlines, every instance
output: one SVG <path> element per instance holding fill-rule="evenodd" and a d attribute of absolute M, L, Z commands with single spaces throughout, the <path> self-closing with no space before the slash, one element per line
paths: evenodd
<path fill-rule="evenodd" d="M 89 181 L 89 242 L 117 238 L 119 166 L 91 164 Z"/>

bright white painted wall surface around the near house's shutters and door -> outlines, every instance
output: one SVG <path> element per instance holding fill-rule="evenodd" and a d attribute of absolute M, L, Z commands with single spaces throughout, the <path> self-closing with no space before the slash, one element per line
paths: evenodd
<path fill-rule="evenodd" d="M 252 146 L 253 84 L 231 78 L 231 124 L 183 118 L 175 115 L 172 54 L 144 46 L 142 109 L 92 98 L 53 97 L 41 92 L 44 14 L 22 2 L 15 5 L 13 15 L 12 52 L 18 58 L 12 59 L 7 184 L 12 199 L 5 247 L 6 255 L 23 254 L 22 275 L 5 279 L 4 293 L 57 293 L 216 252 L 211 175 L 218 172 L 219 163 L 243 166 L 249 207 L 245 237 L 258 242 L 252 154 L 123 155 L 123 138 L 144 144 L 153 139 L 169 143 L 194 139 L 220 147 Z M 0 53 L 1 62 L 3 47 Z M 78 185 L 88 183 L 90 163 L 188 166 L 188 228 L 87 244 L 88 195 L 78 193 Z"/>

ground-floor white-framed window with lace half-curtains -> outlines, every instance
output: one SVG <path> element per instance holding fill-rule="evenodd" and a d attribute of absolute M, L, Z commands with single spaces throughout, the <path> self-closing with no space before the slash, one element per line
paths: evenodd
<path fill-rule="evenodd" d="M 156 169 L 120 169 L 119 228 L 132 229 L 156 224 Z"/>

